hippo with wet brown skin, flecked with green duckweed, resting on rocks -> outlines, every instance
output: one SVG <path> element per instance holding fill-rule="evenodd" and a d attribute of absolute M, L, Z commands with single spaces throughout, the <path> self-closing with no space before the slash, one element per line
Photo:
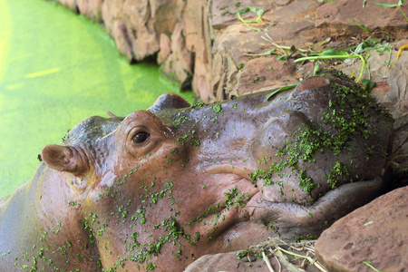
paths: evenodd
<path fill-rule="evenodd" d="M 91 117 L 0 199 L 0 270 L 181 271 L 267 237 L 317 236 L 383 188 L 392 125 L 337 72 L 275 95 L 190 106 L 169 93 L 124 119 Z"/>

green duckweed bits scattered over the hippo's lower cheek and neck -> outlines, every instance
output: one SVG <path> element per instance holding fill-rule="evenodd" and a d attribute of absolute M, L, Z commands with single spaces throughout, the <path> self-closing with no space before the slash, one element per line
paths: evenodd
<path fill-rule="evenodd" d="M 139 169 L 139 167 L 135 167 L 133 169 Z M 131 175 L 133 175 L 136 171 L 131 170 L 129 172 L 129 174 L 125 174 L 123 177 L 121 177 L 118 180 L 121 180 L 121 182 L 123 180 L 126 180 L 127 178 L 129 178 Z M 115 182 L 116 186 L 121 186 L 122 183 L 121 182 Z M 153 181 L 151 181 L 153 182 Z M 152 185 L 152 184 L 151 184 Z M 154 184 L 154 186 L 152 187 L 156 187 L 156 184 Z M 158 202 L 158 200 L 160 199 L 164 199 L 164 197 L 166 197 L 166 194 L 171 194 L 171 189 L 173 187 L 172 182 L 167 182 L 164 185 L 164 189 L 162 189 L 160 192 L 157 191 L 150 191 L 148 189 L 147 186 L 141 186 L 141 189 L 145 189 L 146 194 L 142 195 L 141 198 L 143 199 L 151 199 L 151 204 L 156 204 Z M 118 196 L 120 196 L 120 192 L 117 189 L 114 189 L 114 187 L 110 187 L 109 190 L 115 190 L 118 194 Z M 107 197 L 109 197 L 109 195 L 106 195 Z M 170 197 L 169 197 L 170 199 Z M 144 225 L 147 222 L 147 218 L 146 218 L 146 208 L 143 206 L 139 206 L 138 209 L 136 209 L 135 214 L 137 215 L 137 217 L 132 216 L 131 219 L 129 221 L 127 221 L 127 216 L 129 214 L 128 208 L 129 206 L 131 206 L 131 199 L 127 199 L 126 201 L 126 205 L 121 205 L 120 203 L 123 202 L 123 200 L 125 199 L 120 199 L 120 200 L 116 200 L 115 202 L 117 203 L 115 206 L 117 208 L 117 212 L 113 212 L 112 213 L 112 219 L 116 218 L 116 219 L 123 219 L 121 220 L 122 224 L 125 224 L 124 226 L 133 227 L 133 222 L 138 220 L 140 222 L 141 225 Z M 73 204 L 76 204 L 76 201 L 69 201 L 69 205 L 73 206 Z M 160 224 L 155 225 L 154 228 L 152 230 L 155 229 L 161 229 L 164 231 L 164 233 L 166 234 L 165 237 L 160 237 L 158 239 L 155 239 L 153 241 L 151 241 L 150 243 L 146 242 L 143 243 L 141 245 L 141 242 L 139 242 L 137 240 L 137 238 L 139 237 L 139 233 L 137 232 L 132 232 L 131 235 L 131 244 L 127 244 L 126 246 L 126 250 L 125 252 L 131 253 L 130 255 L 126 255 L 124 257 L 121 257 L 116 263 L 112 263 L 112 267 L 105 267 L 102 268 L 102 271 L 115 271 L 116 268 L 118 267 L 123 267 L 127 261 L 132 261 L 132 262 L 138 262 L 141 264 L 141 267 L 144 267 L 146 270 L 154 270 L 157 265 L 155 264 L 155 262 L 151 261 L 151 257 L 156 256 L 158 254 L 160 254 L 161 248 L 164 244 L 167 243 L 171 243 L 173 245 L 176 245 L 177 247 L 181 248 L 179 239 L 180 238 L 185 238 L 187 239 L 187 241 L 191 244 L 194 245 L 194 243 L 191 243 L 189 235 L 186 235 L 184 233 L 183 228 L 179 227 L 180 224 L 177 222 L 177 220 L 175 219 L 175 217 L 177 215 L 180 215 L 180 211 L 176 211 L 174 216 L 169 216 L 167 219 L 164 219 L 163 221 L 161 221 Z M 110 220 L 106 220 L 106 221 L 102 221 L 99 219 L 99 215 L 95 214 L 95 213 L 89 213 L 88 216 L 86 216 L 84 218 L 83 221 L 83 228 L 85 230 L 88 231 L 89 233 L 89 240 L 88 241 L 80 241 L 78 240 L 78 243 L 83 244 L 83 249 L 89 248 L 90 245 L 92 245 L 93 243 L 96 242 L 96 237 L 102 237 L 104 235 L 105 232 L 105 228 L 110 228 Z M 61 220 L 58 220 L 56 222 L 56 225 L 58 227 L 62 226 L 62 222 Z M 164 229 L 162 229 L 164 228 Z M 146 229 L 145 229 L 146 231 Z M 53 228 L 50 229 L 50 231 L 44 231 L 43 235 L 39 238 L 41 243 L 46 243 L 47 238 L 50 234 L 58 234 L 59 231 L 54 231 Z M 151 234 L 148 236 L 148 238 L 151 237 Z M 195 243 L 197 243 L 199 237 L 195 238 Z M 124 242 L 126 243 L 126 240 L 124 240 Z M 66 263 L 77 263 L 77 264 L 81 264 L 81 262 L 84 259 L 84 256 L 81 254 L 76 254 L 74 256 L 77 257 L 77 259 L 74 259 L 73 257 L 68 257 L 68 255 L 72 256 L 73 252 L 71 251 L 70 248 L 72 248 L 72 241 L 65 241 L 65 244 L 63 246 L 60 246 L 58 250 L 53 250 L 50 251 L 49 247 L 46 246 L 46 251 L 48 251 L 48 254 L 52 254 L 52 256 L 55 259 L 60 259 L 61 257 L 65 257 L 66 258 Z M 110 242 L 108 242 L 108 244 L 110 244 Z M 143 248 L 141 248 L 141 246 L 143 246 Z M 27 264 L 22 264 L 21 266 L 23 267 L 23 269 L 30 269 L 30 271 L 39 271 L 39 269 L 37 269 L 37 265 L 39 264 L 38 260 L 42 259 L 42 261 L 44 261 L 45 267 L 49 267 L 52 270 L 59 270 L 61 267 L 53 267 L 53 258 L 49 258 L 50 256 L 47 255 L 48 259 L 44 257 L 44 244 L 42 244 L 39 247 L 36 247 L 35 245 L 33 246 L 33 251 L 34 248 L 40 248 L 38 253 L 31 253 L 31 252 L 21 252 L 22 255 L 24 255 L 24 258 L 20 259 L 18 257 L 16 257 L 16 261 L 15 261 L 15 266 L 18 266 L 19 263 L 21 263 L 21 261 L 25 262 L 28 259 L 26 258 L 26 256 L 28 257 L 29 255 L 33 255 L 33 259 L 35 260 L 33 265 L 30 267 L 30 265 Z M 181 254 L 181 250 L 179 249 L 174 255 L 175 257 L 180 257 Z M 101 265 L 101 258 L 99 259 L 90 259 L 90 261 L 95 261 L 99 264 L 99 267 L 102 267 Z M 44 270 L 44 268 L 42 269 Z"/>

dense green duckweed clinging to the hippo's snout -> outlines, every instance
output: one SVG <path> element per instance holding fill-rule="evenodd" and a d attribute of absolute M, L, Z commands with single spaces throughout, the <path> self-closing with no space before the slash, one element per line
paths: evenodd
<path fill-rule="evenodd" d="M 345 76 L 342 73 L 340 76 Z M 302 123 L 302 126 L 292 132 L 290 141 L 285 141 L 285 147 L 281 148 L 277 154 L 271 155 L 269 158 L 264 158 L 264 164 L 267 160 L 275 156 L 281 159 L 278 163 L 272 163 L 267 170 L 256 170 L 251 173 L 249 177 L 255 185 L 257 180 L 263 180 L 264 186 L 272 186 L 274 182 L 274 175 L 279 174 L 285 169 L 297 172 L 299 179 L 298 186 L 306 192 L 311 192 L 318 187 L 318 184 L 307 175 L 306 169 L 300 169 L 300 161 L 308 163 L 316 162 L 316 154 L 325 151 L 334 151 L 335 155 L 342 151 L 353 151 L 349 143 L 353 141 L 355 135 L 362 135 L 364 139 L 371 136 L 370 125 L 367 119 L 370 118 L 370 111 L 375 110 L 375 105 L 368 92 L 364 91 L 360 86 L 354 85 L 354 88 L 347 87 L 343 84 L 332 83 L 331 90 L 335 94 L 335 99 L 330 100 L 328 108 L 325 110 L 321 118 L 321 124 L 316 121 L 308 120 L 307 123 Z M 268 97 L 267 97 L 268 99 Z M 392 118 L 388 113 L 381 112 L 388 122 L 392 122 Z M 330 131 L 325 130 L 328 127 Z M 367 155 L 374 154 L 374 146 L 367 148 Z M 260 163 L 260 161 L 258 161 Z M 325 175 L 330 189 L 337 188 L 338 180 L 354 179 L 350 177 L 350 169 L 356 168 L 353 165 L 353 160 L 350 163 L 335 161 L 329 171 L 328 176 Z M 358 180 L 358 177 L 355 177 Z M 281 197 L 285 200 L 285 196 L 281 192 Z M 311 194 L 309 199 L 312 200 Z M 296 199 L 292 199 L 295 200 Z"/>

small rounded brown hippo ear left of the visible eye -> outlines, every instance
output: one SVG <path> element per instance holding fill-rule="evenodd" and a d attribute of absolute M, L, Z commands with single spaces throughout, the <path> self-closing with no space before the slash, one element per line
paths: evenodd
<path fill-rule="evenodd" d="M 71 146 L 48 145 L 41 151 L 45 164 L 59 171 L 71 172 L 75 176 L 82 176 L 88 169 L 87 158 L 83 151 Z"/>

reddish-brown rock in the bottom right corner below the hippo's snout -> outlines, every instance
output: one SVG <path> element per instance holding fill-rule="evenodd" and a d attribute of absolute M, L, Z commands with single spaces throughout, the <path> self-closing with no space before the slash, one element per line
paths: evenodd
<path fill-rule="evenodd" d="M 329 271 L 404 271 L 408 267 L 408 187 L 395 189 L 345 216 L 316 241 Z"/>

